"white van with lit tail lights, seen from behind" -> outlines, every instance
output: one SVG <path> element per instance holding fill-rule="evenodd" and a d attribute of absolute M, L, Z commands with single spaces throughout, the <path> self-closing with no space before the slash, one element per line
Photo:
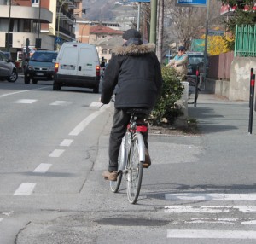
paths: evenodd
<path fill-rule="evenodd" d="M 99 55 L 94 45 L 62 44 L 55 62 L 53 90 L 61 90 L 61 86 L 76 86 L 92 88 L 98 93 L 100 78 Z"/>

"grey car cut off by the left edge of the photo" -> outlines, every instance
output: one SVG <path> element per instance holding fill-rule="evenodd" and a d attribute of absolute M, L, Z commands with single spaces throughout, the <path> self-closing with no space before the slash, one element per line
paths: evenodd
<path fill-rule="evenodd" d="M 15 64 L 0 51 L 0 79 L 15 82 L 17 78 L 18 73 Z"/>

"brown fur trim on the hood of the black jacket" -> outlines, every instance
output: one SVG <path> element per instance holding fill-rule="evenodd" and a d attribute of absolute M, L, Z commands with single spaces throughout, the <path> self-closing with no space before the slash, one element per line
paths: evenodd
<path fill-rule="evenodd" d="M 122 46 L 113 49 L 113 55 L 141 55 L 154 52 L 155 44 Z"/>

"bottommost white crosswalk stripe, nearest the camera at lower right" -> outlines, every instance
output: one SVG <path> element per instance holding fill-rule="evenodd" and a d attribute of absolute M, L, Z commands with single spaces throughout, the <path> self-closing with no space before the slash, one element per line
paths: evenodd
<path fill-rule="evenodd" d="M 256 239 L 256 231 L 212 230 L 212 229 L 168 229 L 167 238 L 195 239 Z"/>

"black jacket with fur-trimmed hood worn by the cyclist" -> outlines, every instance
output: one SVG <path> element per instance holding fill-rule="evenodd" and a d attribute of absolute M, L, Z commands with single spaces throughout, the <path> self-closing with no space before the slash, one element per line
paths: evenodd
<path fill-rule="evenodd" d="M 152 109 L 160 95 L 162 76 L 154 54 L 154 44 L 122 46 L 113 50 L 102 82 L 102 103 L 108 103 L 115 90 L 117 108 Z"/>

